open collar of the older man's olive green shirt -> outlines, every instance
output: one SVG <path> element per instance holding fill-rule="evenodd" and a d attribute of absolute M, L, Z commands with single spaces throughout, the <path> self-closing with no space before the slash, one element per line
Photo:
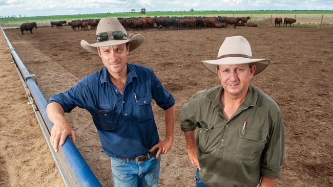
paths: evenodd
<path fill-rule="evenodd" d="M 246 109 L 249 106 L 254 106 L 254 107 L 256 106 L 258 95 L 254 91 L 254 89 L 255 88 L 251 84 L 248 86 L 245 100 L 241 104 L 241 109 Z M 216 86 L 216 87 L 212 88 L 209 92 L 206 93 L 205 98 L 211 100 L 213 102 L 213 105 L 215 107 L 217 107 L 218 105 L 221 104 L 220 98 L 221 98 L 222 91 L 223 91 L 222 86 Z"/>

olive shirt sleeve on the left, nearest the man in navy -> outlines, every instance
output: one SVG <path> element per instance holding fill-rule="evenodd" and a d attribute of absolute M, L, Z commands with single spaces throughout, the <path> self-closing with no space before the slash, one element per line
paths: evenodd
<path fill-rule="evenodd" d="M 182 131 L 193 131 L 196 129 L 196 122 L 198 121 L 198 105 L 196 101 L 197 95 L 190 98 L 188 103 L 185 103 L 180 110 L 180 128 Z"/>

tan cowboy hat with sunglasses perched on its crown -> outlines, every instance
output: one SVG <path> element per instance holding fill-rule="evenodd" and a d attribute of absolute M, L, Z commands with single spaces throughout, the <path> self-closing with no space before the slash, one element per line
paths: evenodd
<path fill-rule="evenodd" d="M 82 48 L 97 54 L 97 47 L 130 43 L 131 52 L 138 48 L 144 40 L 144 37 L 140 34 L 129 38 L 126 30 L 122 27 L 116 17 L 100 19 L 96 29 L 96 38 L 96 43 L 91 44 L 85 40 L 81 40 Z"/>

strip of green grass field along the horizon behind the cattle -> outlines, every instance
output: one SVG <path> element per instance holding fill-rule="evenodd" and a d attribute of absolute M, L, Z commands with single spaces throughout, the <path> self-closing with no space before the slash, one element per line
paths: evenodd
<path fill-rule="evenodd" d="M 147 12 L 141 13 L 105 13 L 105 14 L 79 14 L 79 15 L 57 15 L 57 16 L 37 16 L 37 17 L 22 17 L 22 18 L 3 18 L 1 23 L 8 22 L 32 22 L 46 20 L 73 20 L 73 19 L 90 19 L 102 17 L 139 17 L 139 16 L 210 16 L 210 15 L 235 15 L 238 14 L 333 14 L 333 11 L 166 11 L 166 12 Z"/>

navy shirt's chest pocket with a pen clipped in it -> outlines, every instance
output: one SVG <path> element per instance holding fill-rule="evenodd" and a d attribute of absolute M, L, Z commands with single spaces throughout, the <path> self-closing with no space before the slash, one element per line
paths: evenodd
<path fill-rule="evenodd" d="M 153 119 L 152 95 L 133 98 L 133 114 L 137 122 Z"/>

